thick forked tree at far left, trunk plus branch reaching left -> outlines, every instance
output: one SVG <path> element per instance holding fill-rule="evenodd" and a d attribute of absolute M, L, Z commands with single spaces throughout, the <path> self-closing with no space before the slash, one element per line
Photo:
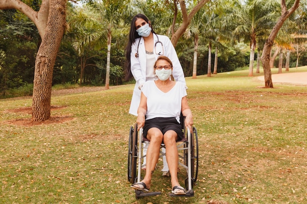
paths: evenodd
<path fill-rule="evenodd" d="M 35 59 L 32 121 L 50 118 L 53 66 L 66 27 L 66 0 L 42 0 L 34 11 L 21 0 L 0 0 L 0 9 L 17 9 L 37 27 L 42 38 Z"/>

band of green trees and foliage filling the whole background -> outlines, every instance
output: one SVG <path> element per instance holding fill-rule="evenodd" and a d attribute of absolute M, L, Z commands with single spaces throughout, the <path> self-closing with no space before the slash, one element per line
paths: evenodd
<path fill-rule="evenodd" d="M 165 0 L 94 0 L 83 1 L 76 6 L 69 3 L 67 22 L 69 28 L 64 35 L 53 71 L 52 85 L 77 84 L 81 68 L 85 85 L 102 86 L 105 83 L 107 59 L 107 31 L 111 31 L 110 84 L 122 84 L 124 72 L 119 67 L 125 63 L 125 46 L 132 17 L 144 13 L 150 19 L 156 33 L 171 37 L 170 27 L 174 18 L 173 1 Z M 188 9 L 196 1 L 187 1 Z M 40 1 L 26 1 L 36 11 Z M 214 49 L 219 48 L 218 72 L 245 67 L 249 63 L 249 38 L 252 25 L 257 35 L 257 45 L 266 38 L 267 28 L 278 13 L 274 0 L 249 0 L 246 7 L 238 0 L 225 0 L 223 4 L 211 1 L 193 18 L 185 36 L 179 39 L 176 51 L 185 76 L 192 75 L 194 35 L 199 34 L 198 75 L 207 72 L 208 42 L 212 43 L 212 65 Z M 299 27 L 298 33 L 306 33 L 306 0 L 291 21 Z M 242 15 L 243 10 L 245 14 Z M 115 15 L 120 14 L 120 15 Z M 254 16 L 253 16 L 254 14 Z M 254 21 L 253 21 L 254 19 Z M 175 28 L 182 22 L 179 11 Z M 293 23 L 292 22 L 292 23 Z M 109 24 L 112 24 L 108 29 Z M 305 29 L 305 30 L 304 30 Z M 292 28 L 291 28 L 292 32 Z M 231 34 L 237 34 L 233 36 Z M 243 38 L 248 44 L 235 45 Z M 304 40 L 304 39 L 300 39 Z M 0 92 L 33 83 L 35 56 L 40 45 L 37 29 L 25 15 L 15 10 L 0 12 Z M 238 48 L 239 47 L 239 48 Z M 306 65 L 306 51 L 300 52 L 299 66 Z M 290 55 L 290 67 L 296 66 L 296 54 Z M 118 67 L 119 66 L 119 67 Z M 114 70 L 112 70 L 114 69 Z"/>

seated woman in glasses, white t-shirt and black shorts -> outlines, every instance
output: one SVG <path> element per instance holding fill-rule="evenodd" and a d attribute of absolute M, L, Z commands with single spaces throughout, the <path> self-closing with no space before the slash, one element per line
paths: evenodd
<path fill-rule="evenodd" d="M 171 80 L 172 70 L 172 61 L 165 56 L 159 56 L 154 64 L 158 79 L 147 81 L 143 85 L 136 122 L 138 130 L 143 127 L 143 134 L 150 140 L 150 144 L 146 155 L 145 177 L 141 182 L 133 183 L 131 188 L 149 191 L 163 141 L 171 174 L 172 193 L 184 195 L 185 189 L 180 186 L 177 177 L 179 158 L 176 141 L 184 137 L 179 121 L 180 113 L 185 116 L 184 125 L 190 130 L 193 118 L 187 103 L 185 85 Z"/>

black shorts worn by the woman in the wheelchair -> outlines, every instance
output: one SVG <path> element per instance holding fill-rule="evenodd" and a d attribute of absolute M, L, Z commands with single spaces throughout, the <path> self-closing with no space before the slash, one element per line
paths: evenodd
<path fill-rule="evenodd" d="M 147 138 L 147 132 L 151 128 L 158 128 L 163 135 L 167 131 L 173 130 L 178 135 L 178 141 L 184 137 L 181 124 L 178 123 L 175 117 L 155 117 L 153 119 L 145 120 L 145 125 L 143 128 L 143 134 L 145 138 Z"/>

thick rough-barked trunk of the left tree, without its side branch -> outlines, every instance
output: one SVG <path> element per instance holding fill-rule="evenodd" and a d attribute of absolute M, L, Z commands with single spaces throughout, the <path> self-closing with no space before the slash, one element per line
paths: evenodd
<path fill-rule="evenodd" d="M 46 32 L 35 60 L 32 121 L 50 118 L 53 66 L 65 26 L 66 0 L 50 0 Z"/>

